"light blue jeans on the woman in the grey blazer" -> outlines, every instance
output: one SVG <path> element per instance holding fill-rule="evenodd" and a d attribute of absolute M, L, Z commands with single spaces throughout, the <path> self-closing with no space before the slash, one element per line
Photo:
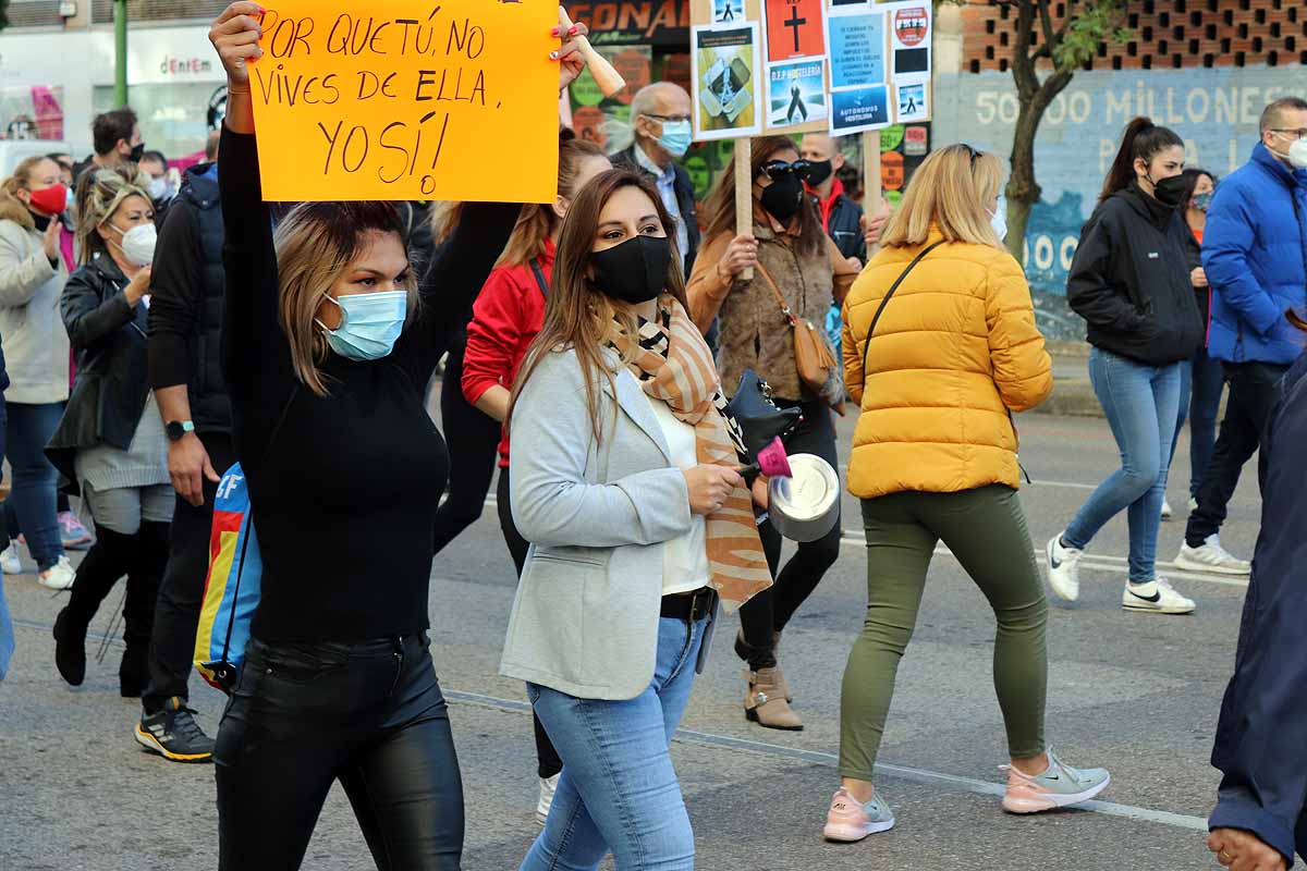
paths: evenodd
<path fill-rule="evenodd" d="M 627 701 L 576 699 L 527 684 L 563 760 L 545 831 L 521 871 L 690 871 L 694 831 L 668 744 L 694 684 L 707 618 L 661 618 L 654 680 Z"/>

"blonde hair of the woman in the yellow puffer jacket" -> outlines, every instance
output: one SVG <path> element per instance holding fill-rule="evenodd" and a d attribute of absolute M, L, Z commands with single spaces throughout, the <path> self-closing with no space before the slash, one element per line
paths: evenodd
<path fill-rule="evenodd" d="M 1002 161 L 970 145 L 932 151 L 912 174 L 903 202 L 881 234 L 886 248 L 925 244 L 937 227 L 945 242 L 1002 248 L 989 223 L 988 202 L 999 196 Z"/>

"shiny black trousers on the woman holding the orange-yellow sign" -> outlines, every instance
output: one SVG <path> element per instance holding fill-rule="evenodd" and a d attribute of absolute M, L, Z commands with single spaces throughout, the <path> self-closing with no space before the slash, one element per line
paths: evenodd
<path fill-rule="evenodd" d="M 251 640 L 218 726 L 220 871 L 299 868 L 335 781 L 379 871 L 456 871 L 463 780 L 426 633 Z"/>

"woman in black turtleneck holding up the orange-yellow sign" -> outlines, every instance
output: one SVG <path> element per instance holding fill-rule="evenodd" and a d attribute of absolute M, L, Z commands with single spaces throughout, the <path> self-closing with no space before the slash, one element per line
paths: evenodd
<path fill-rule="evenodd" d="M 469 204 L 421 289 L 389 202 L 302 202 L 273 231 L 259 149 L 289 146 L 255 137 L 261 14 L 234 3 L 209 33 L 229 82 L 223 367 L 263 559 L 213 755 L 220 867 L 298 868 L 339 780 L 379 868 L 459 868 L 463 785 L 427 650 L 448 453 L 422 388 L 519 206 Z M 575 42 L 550 59 L 561 87 L 584 67 Z"/>

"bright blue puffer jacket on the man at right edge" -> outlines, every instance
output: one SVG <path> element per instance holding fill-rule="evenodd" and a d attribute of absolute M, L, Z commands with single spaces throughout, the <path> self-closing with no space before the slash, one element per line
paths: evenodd
<path fill-rule="evenodd" d="M 1307 171 L 1257 144 L 1217 188 L 1202 234 L 1212 283 L 1208 354 L 1287 366 L 1303 350 L 1285 309 L 1307 312 Z"/>

